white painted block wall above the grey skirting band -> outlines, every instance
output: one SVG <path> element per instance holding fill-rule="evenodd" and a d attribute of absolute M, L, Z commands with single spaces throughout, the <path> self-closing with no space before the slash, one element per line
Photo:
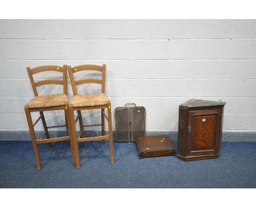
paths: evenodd
<path fill-rule="evenodd" d="M 256 20 L 0 20 L 0 131 L 27 130 L 26 66 L 63 64 L 107 64 L 113 126 L 114 109 L 135 102 L 147 109 L 148 131 L 177 130 L 179 104 L 195 98 L 227 102 L 225 131 L 256 131 Z M 88 89 L 98 88 L 79 90 Z M 46 119 L 65 122 L 61 111 Z M 99 122 L 100 113 L 83 119 Z"/>

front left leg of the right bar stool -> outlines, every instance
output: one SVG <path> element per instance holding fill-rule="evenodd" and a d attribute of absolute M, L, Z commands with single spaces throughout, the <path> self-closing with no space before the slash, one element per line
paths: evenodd
<path fill-rule="evenodd" d="M 74 119 L 74 110 L 73 106 L 69 105 L 69 137 L 71 138 L 71 142 L 73 141 L 74 144 L 74 154 L 75 154 L 75 163 L 77 164 L 77 168 L 80 168 L 80 161 L 79 161 L 79 152 L 78 152 L 78 140 L 77 140 L 77 130 L 75 129 L 75 119 Z"/>

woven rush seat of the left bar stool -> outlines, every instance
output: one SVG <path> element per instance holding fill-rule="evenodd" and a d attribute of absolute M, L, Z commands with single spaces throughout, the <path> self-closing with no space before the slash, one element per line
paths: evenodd
<path fill-rule="evenodd" d="M 68 102 L 66 94 L 36 96 L 27 103 L 28 108 L 45 108 L 64 106 Z"/>

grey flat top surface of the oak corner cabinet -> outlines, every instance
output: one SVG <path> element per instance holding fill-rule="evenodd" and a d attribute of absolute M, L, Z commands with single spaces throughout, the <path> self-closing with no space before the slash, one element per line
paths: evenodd
<path fill-rule="evenodd" d="M 224 106 L 226 102 L 217 102 L 210 100 L 199 100 L 199 99 L 190 99 L 187 102 L 182 103 L 179 107 L 184 108 L 198 108 L 198 107 L 212 107 L 212 106 Z"/>

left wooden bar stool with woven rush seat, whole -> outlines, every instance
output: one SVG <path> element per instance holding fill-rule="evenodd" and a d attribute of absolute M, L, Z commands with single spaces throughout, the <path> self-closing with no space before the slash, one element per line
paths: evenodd
<path fill-rule="evenodd" d="M 37 74 L 39 72 L 44 71 L 57 71 L 61 72 L 63 74 L 63 80 L 60 79 L 45 79 L 43 81 L 34 82 L 33 75 Z M 49 147 L 51 146 L 51 142 L 58 142 L 62 140 L 69 140 L 72 139 L 72 137 L 66 136 L 66 137 L 57 137 L 57 138 L 50 138 L 48 129 L 55 128 L 55 127 L 63 127 L 66 126 L 67 132 L 69 130 L 68 128 L 68 122 L 66 114 L 68 113 L 68 96 L 67 96 L 67 66 L 63 65 L 61 66 L 39 66 L 37 68 L 30 69 L 27 68 L 28 77 L 30 77 L 30 82 L 34 91 L 33 99 L 31 99 L 25 108 L 25 113 L 27 117 L 27 123 L 28 128 L 30 130 L 30 136 L 33 144 L 34 154 L 36 156 L 36 162 L 37 162 L 37 169 L 41 169 L 41 163 L 40 163 L 40 156 L 38 152 L 38 144 L 48 143 Z M 57 95 L 45 95 L 45 96 L 38 96 L 37 87 L 44 85 L 44 84 L 61 84 L 63 85 L 63 94 L 57 94 Z M 65 118 L 66 118 L 66 125 L 60 125 L 60 126 L 47 126 L 44 118 L 44 111 L 55 111 L 55 110 L 65 110 Z M 31 118 L 31 112 L 39 112 L 40 116 L 39 118 L 33 123 Z M 36 134 L 34 132 L 34 126 L 38 123 L 39 120 L 42 120 L 43 127 L 44 127 L 44 133 L 39 138 L 36 139 Z M 69 132 L 68 135 L 71 133 Z M 44 136 L 46 139 L 43 139 Z M 75 155 L 74 155 L 74 144 L 73 141 L 70 141 L 71 143 L 71 149 L 72 149 L 72 157 L 73 157 L 73 164 L 76 164 L 75 162 Z"/>

